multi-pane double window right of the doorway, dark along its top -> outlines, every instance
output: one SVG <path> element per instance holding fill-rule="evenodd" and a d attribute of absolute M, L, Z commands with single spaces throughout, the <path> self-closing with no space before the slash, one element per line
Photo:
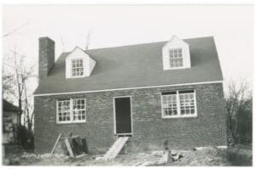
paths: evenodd
<path fill-rule="evenodd" d="M 163 117 L 196 116 L 195 90 L 162 93 Z"/>

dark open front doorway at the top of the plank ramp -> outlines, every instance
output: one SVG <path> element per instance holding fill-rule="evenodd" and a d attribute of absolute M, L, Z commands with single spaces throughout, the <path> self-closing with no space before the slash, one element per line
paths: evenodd
<path fill-rule="evenodd" d="M 114 98 L 117 134 L 131 134 L 131 98 Z"/>

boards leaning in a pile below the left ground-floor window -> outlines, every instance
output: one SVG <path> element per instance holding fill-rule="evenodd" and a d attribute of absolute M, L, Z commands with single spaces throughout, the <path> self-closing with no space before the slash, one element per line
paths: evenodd
<path fill-rule="evenodd" d="M 78 158 L 88 154 L 88 148 L 85 138 L 81 139 L 78 135 L 73 136 L 72 133 L 61 138 L 61 134 L 59 134 L 50 153 L 51 155 L 64 154 Z"/>

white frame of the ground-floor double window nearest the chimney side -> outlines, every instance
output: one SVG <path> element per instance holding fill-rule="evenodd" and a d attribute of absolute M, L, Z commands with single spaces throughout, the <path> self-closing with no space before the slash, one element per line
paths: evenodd
<path fill-rule="evenodd" d="M 81 99 L 81 98 L 75 98 L 75 99 Z M 84 99 L 84 98 L 82 98 Z M 59 121 L 59 102 L 63 101 L 63 100 L 69 100 L 69 106 L 70 106 L 70 121 Z M 74 99 L 57 99 L 56 100 L 56 123 L 58 124 L 62 124 L 62 123 L 82 123 L 82 122 L 86 122 L 86 115 L 87 115 L 87 109 L 86 109 L 86 99 L 84 99 L 84 111 L 85 111 L 85 119 L 84 120 L 77 120 L 74 121 L 73 120 L 73 100 Z"/>

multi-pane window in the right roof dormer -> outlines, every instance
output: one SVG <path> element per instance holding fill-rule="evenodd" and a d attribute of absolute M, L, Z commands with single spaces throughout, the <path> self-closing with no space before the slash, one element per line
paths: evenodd
<path fill-rule="evenodd" d="M 183 67 L 183 49 L 172 48 L 170 50 L 170 67 Z"/>

